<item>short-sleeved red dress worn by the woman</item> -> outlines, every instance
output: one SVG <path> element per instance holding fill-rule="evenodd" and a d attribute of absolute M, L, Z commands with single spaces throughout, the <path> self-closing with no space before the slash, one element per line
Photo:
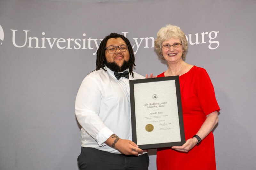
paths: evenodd
<path fill-rule="evenodd" d="M 157 77 L 164 77 L 164 73 Z M 180 93 L 186 140 L 196 135 L 206 115 L 219 111 L 213 85 L 205 69 L 193 66 L 180 77 Z M 188 153 L 171 148 L 157 149 L 157 170 L 215 170 L 212 132 Z"/>

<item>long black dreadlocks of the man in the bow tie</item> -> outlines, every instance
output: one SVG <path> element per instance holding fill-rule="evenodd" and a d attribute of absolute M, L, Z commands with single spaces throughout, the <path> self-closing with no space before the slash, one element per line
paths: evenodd
<path fill-rule="evenodd" d="M 105 64 L 107 63 L 106 57 L 105 57 L 105 48 L 106 48 L 106 44 L 108 39 L 110 38 L 122 38 L 124 40 L 124 42 L 126 43 L 126 45 L 128 45 L 128 50 L 129 50 L 129 54 L 130 54 L 130 58 L 129 58 L 129 73 L 130 75 L 132 75 L 133 77 L 133 72 L 132 72 L 132 68 L 133 66 L 135 66 L 135 57 L 134 57 L 134 53 L 132 50 L 132 45 L 130 43 L 130 41 L 121 34 L 118 33 L 110 33 L 108 36 L 106 36 L 101 42 L 100 42 L 100 46 L 99 49 L 97 50 L 97 59 L 96 59 L 96 69 L 95 70 L 100 70 L 100 69 L 104 69 Z M 107 71 L 107 70 L 105 70 Z"/>

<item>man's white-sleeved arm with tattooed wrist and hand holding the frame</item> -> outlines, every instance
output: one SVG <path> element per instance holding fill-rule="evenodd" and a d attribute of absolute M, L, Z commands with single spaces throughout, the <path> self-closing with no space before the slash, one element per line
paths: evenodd
<path fill-rule="evenodd" d="M 100 85 L 93 78 L 86 77 L 76 96 L 75 111 L 80 125 L 93 137 L 99 146 L 108 145 L 126 155 L 142 152 L 137 144 L 121 139 L 114 134 L 99 116 L 101 92 Z"/>

